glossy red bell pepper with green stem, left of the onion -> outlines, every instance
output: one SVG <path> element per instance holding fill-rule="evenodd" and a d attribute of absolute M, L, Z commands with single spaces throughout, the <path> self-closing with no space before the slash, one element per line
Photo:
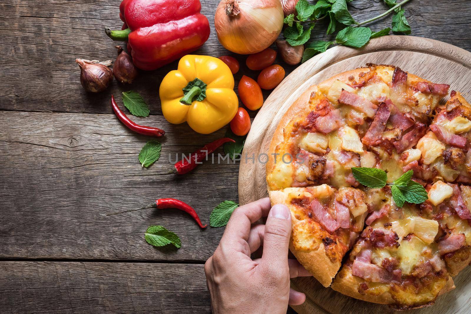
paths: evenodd
<path fill-rule="evenodd" d="M 123 30 L 106 34 L 128 41 L 133 63 L 155 70 L 195 51 L 209 38 L 210 27 L 199 0 L 123 0 Z"/>

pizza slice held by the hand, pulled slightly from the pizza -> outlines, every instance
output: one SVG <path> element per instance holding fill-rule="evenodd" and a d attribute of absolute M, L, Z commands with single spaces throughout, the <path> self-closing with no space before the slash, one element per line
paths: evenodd
<path fill-rule="evenodd" d="M 363 230 L 367 214 L 365 193 L 327 184 L 269 192 L 272 204 L 285 204 L 292 214 L 290 250 L 325 287 Z M 322 265 L 322 267 L 319 267 Z"/>

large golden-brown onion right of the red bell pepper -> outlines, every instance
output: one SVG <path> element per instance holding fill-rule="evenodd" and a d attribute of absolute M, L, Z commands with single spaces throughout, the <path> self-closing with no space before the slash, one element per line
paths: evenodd
<path fill-rule="evenodd" d="M 268 48 L 283 28 L 280 0 L 222 0 L 214 26 L 222 46 L 249 55 Z"/>

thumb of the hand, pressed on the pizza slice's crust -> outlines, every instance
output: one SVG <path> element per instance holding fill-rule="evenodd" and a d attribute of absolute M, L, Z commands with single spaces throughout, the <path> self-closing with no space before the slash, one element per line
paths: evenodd
<path fill-rule="evenodd" d="M 266 267 L 288 269 L 288 245 L 291 237 L 291 212 L 276 204 L 268 213 L 263 236 L 262 264 Z"/>

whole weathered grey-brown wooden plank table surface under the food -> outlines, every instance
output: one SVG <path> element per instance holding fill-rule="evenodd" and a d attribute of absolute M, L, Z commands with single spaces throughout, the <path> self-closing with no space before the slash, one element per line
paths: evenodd
<path fill-rule="evenodd" d="M 214 31 L 218 1 L 202 2 L 211 36 L 196 53 L 234 55 Z M 115 58 L 115 43 L 103 27 L 121 27 L 119 3 L 0 3 L 0 313 L 211 312 L 203 264 L 224 228 L 200 230 L 176 210 L 106 216 L 176 197 L 207 222 L 219 202 L 237 201 L 237 163 L 205 163 L 181 177 L 164 174 L 175 154 L 225 131 L 201 135 L 162 117 L 158 87 L 176 62 L 141 72 L 131 86 L 114 80 L 101 94 L 81 88 L 75 58 Z M 387 8 L 380 0 L 355 0 L 349 7 L 358 21 Z M 412 35 L 471 51 L 469 10 L 468 0 L 413 0 L 406 16 Z M 387 16 L 368 26 L 380 30 L 390 21 Z M 317 26 L 313 37 L 327 39 L 325 27 Z M 236 82 L 243 74 L 256 77 L 244 56 L 234 56 L 241 62 Z M 287 73 L 294 69 L 279 61 Z M 150 139 L 122 126 L 110 106 L 110 94 L 130 89 L 151 110 L 150 117 L 134 119 L 167 132 L 160 160 L 148 169 L 137 157 Z M 150 225 L 176 232 L 181 249 L 148 245 L 143 237 Z"/>

